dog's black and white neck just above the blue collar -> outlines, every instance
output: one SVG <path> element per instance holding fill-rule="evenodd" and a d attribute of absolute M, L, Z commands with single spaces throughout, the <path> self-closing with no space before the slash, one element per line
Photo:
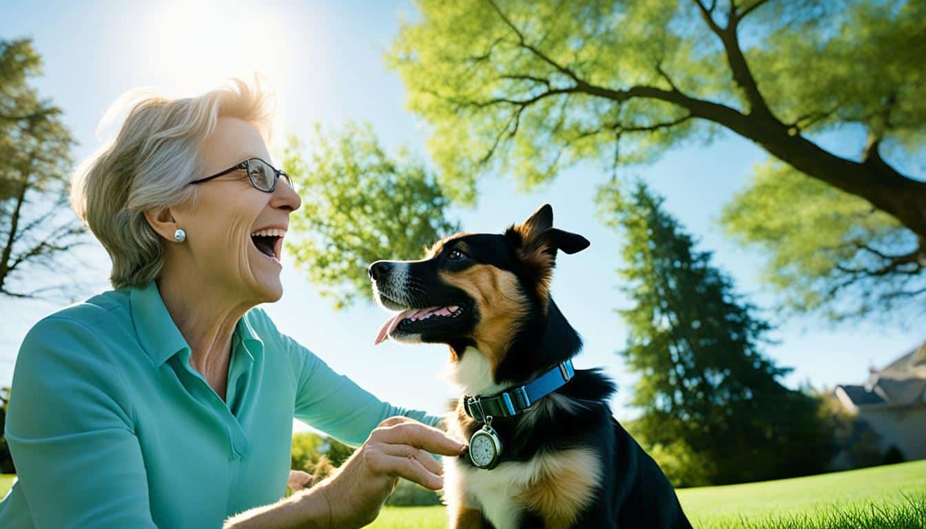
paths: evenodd
<path fill-rule="evenodd" d="M 468 346 L 449 366 L 447 378 L 466 395 L 492 395 L 527 384 L 582 348 L 582 338 L 552 298 L 546 318 L 531 321 L 519 330 L 497 366 L 482 351 Z"/>

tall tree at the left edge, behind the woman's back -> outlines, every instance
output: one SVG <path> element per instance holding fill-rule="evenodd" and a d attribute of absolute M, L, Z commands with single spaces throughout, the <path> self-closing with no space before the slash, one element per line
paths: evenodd
<path fill-rule="evenodd" d="M 84 241 L 69 209 L 70 148 L 61 110 L 29 84 L 42 61 L 29 40 L 0 40 L 0 295 L 38 296 L 71 285 L 36 281 L 60 272 Z"/>

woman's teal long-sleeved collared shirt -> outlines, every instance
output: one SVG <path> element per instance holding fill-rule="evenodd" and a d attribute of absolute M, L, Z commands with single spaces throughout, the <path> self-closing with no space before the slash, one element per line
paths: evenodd
<path fill-rule="evenodd" d="M 393 415 L 437 421 L 333 372 L 261 309 L 235 327 L 226 400 L 189 359 L 154 282 L 32 327 L 6 415 L 19 476 L 0 527 L 221 527 L 282 498 L 294 417 L 354 446 Z"/>

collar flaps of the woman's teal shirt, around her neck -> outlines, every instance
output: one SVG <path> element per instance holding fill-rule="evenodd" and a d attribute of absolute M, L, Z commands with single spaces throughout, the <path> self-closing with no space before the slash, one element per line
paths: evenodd
<path fill-rule="evenodd" d="M 161 293 L 157 290 L 156 282 L 147 283 L 142 288 L 131 287 L 129 298 L 135 334 L 144 352 L 151 357 L 156 367 L 180 351 L 186 350 L 189 354 L 190 346 L 170 317 Z M 235 335 L 244 344 L 247 358 L 252 362 L 252 351 L 263 352 L 264 342 L 254 331 L 246 315 L 235 325 Z"/>

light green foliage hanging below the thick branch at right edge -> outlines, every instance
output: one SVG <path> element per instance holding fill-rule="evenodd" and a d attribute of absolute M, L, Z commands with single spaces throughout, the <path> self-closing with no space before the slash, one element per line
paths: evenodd
<path fill-rule="evenodd" d="M 767 257 L 765 279 L 782 308 L 832 320 L 922 311 L 926 266 L 916 235 L 857 196 L 780 161 L 757 167 L 723 209 L 726 232 Z"/>

